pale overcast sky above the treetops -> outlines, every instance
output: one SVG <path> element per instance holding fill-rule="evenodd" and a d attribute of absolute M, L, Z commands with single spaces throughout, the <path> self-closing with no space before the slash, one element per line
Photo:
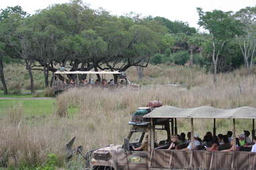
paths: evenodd
<path fill-rule="evenodd" d="M 20 5 L 30 14 L 37 9 L 44 9 L 56 3 L 67 3 L 69 0 L 0 0 L 0 9 L 7 6 Z M 222 11 L 238 11 L 241 8 L 255 6 L 256 0 L 84 0 L 92 9 L 103 7 L 114 15 L 122 15 L 133 11 L 143 16 L 153 15 L 171 21 L 186 21 L 191 27 L 198 28 L 196 7 L 204 11 L 220 9 Z"/>

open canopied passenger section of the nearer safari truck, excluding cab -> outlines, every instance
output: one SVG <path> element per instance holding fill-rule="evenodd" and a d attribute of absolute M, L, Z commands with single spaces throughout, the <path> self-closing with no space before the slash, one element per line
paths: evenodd
<path fill-rule="evenodd" d="M 216 119 L 231 119 L 232 120 L 232 137 L 236 139 L 236 120 L 251 120 L 252 129 L 251 135 L 255 136 L 255 118 L 256 108 L 241 107 L 233 109 L 220 109 L 210 106 L 202 106 L 198 108 L 177 108 L 173 106 L 161 106 L 155 108 L 152 112 L 144 115 L 144 118 L 151 120 L 148 123 L 148 167 L 149 169 L 256 169 L 256 153 L 251 153 L 250 150 L 234 150 L 234 151 L 207 151 L 194 147 L 194 120 L 210 119 L 212 120 L 212 134 L 216 135 L 218 129 L 216 129 Z M 169 150 L 170 135 L 177 135 L 179 124 L 177 119 L 188 118 L 191 132 L 191 150 L 173 149 Z M 159 123 L 159 120 L 165 120 L 165 123 Z M 159 125 L 164 126 L 165 131 L 169 131 L 166 137 L 166 143 L 158 143 L 155 132 Z M 136 128 L 134 128 L 136 131 Z M 141 136 L 142 137 L 142 136 Z M 236 141 L 236 140 L 234 140 Z M 138 143 L 142 142 L 140 138 Z M 163 144 L 163 145 L 162 145 Z M 234 145 L 237 143 L 234 142 Z M 136 144 L 138 145 L 138 144 Z M 165 146 L 167 145 L 167 146 Z M 194 148 L 194 149 L 193 149 Z"/>

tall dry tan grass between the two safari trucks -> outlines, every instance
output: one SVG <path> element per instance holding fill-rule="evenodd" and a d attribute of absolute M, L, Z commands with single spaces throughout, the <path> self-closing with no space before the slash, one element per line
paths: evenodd
<path fill-rule="evenodd" d="M 245 76 L 241 70 L 220 74 L 218 82 L 214 84 L 212 75 L 200 70 L 192 72 L 183 68 L 170 68 L 164 71 L 168 73 L 168 78 L 165 77 L 166 73 L 159 71 L 162 76 L 151 80 L 151 86 L 142 88 L 71 89 L 57 97 L 56 113 L 51 116 L 26 118 L 22 114 L 22 106 L 9 110 L 0 119 L 1 155 L 8 153 L 9 165 L 22 162 L 35 165 L 43 163 L 49 153 L 58 155 L 60 161 L 64 160 L 65 144 L 74 136 L 77 137 L 75 145 L 83 145 L 85 151 L 112 143 L 121 144 L 128 135 L 128 121 L 132 112 L 150 100 L 161 100 L 163 104 L 183 108 L 202 105 L 217 108 L 256 106 L 255 75 Z M 150 72 L 145 70 L 144 74 L 150 75 Z M 185 90 L 157 85 L 155 82 L 158 80 L 163 80 L 163 84 L 167 84 L 168 80 L 174 83 L 183 80 L 194 85 Z M 67 109 L 74 106 L 79 108 L 79 112 L 68 115 Z M 190 131 L 188 122 L 187 119 L 178 120 L 179 133 Z M 194 124 L 196 133 L 201 136 L 212 130 L 212 120 L 198 119 Z M 217 133 L 226 133 L 230 129 L 231 120 L 217 120 Z M 251 129 L 251 121 L 237 121 L 237 133 L 242 133 L 244 129 Z"/>

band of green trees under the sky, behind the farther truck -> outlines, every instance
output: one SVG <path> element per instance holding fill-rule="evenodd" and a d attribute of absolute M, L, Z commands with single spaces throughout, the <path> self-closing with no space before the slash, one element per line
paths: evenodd
<path fill-rule="evenodd" d="M 34 15 L 22 7 L 0 11 L 0 78 L 7 86 L 3 64 L 26 66 L 33 89 L 32 70 L 42 70 L 45 86 L 50 72 L 69 70 L 119 70 L 151 64 L 197 64 L 214 73 L 255 62 L 256 8 L 237 13 L 198 9 L 200 33 L 183 21 L 164 17 L 116 16 L 91 9 L 82 1 L 48 7 Z"/>

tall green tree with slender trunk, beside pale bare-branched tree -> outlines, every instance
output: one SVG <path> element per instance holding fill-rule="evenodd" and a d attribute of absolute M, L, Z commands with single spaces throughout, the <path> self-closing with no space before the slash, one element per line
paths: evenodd
<path fill-rule="evenodd" d="M 232 12 L 214 10 L 204 12 L 198 8 L 198 24 L 208 30 L 212 41 L 212 64 L 214 66 L 214 82 L 216 82 L 217 64 L 225 44 L 235 35 L 243 34 L 243 23 L 232 16 Z"/>

